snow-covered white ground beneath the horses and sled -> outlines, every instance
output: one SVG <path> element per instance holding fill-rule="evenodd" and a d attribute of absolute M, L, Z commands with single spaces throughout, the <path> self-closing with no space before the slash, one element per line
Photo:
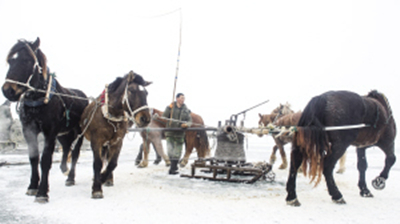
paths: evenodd
<path fill-rule="evenodd" d="M 249 136 L 247 160 L 268 160 L 272 143 L 271 137 Z M 334 204 L 324 182 L 314 188 L 300 175 L 297 193 L 302 206 L 295 208 L 285 202 L 288 170 L 277 169 L 280 159 L 275 164 L 274 183 L 212 182 L 167 175 L 164 163 L 136 168 L 139 144 L 138 135 L 125 139 L 114 187 L 103 187 L 101 200 L 90 198 L 91 151 L 81 153 L 73 187 L 64 185 L 66 177 L 57 163 L 61 155 L 55 153 L 47 204 L 34 203 L 33 197 L 25 195 L 30 178 L 28 164 L 0 167 L 0 223 L 398 223 L 399 162 L 392 168 L 384 190 L 377 191 L 370 184 L 383 167 L 384 155 L 378 148 L 367 151 L 367 181 L 374 198 L 359 196 L 356 153 L 349 148 L 346 172 L 335 175 L 347 204 Z M 289 153 L 290 146 L 286 148 Z M 3 153 L 0 162 L 4 161 L 28 162 L 28 157 L 25 153 Z M 189 166 L 181 173 L 189 173 Z"/>

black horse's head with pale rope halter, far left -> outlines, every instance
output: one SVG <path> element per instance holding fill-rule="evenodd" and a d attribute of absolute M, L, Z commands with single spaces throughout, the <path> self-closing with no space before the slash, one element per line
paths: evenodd
<path fill-rule="evenodd" d="M 19 40 L 8 53 L 9 69 L 2 90 L 10 101 L 18 101 L 27 86 L 46 88 L 47 60 L 39 46 L 39 38 L 33 43 Z"/>

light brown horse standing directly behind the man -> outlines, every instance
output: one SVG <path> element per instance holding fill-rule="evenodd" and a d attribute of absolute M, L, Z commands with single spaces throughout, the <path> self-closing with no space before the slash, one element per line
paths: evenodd
<path fill-rule="evenodd" d="M 162 118 L 163 112 L 157 109 L 153 109 L 152 119 L 148 128 L 165 128 L 166 120 Z M 195 113 L 190 113 L 192 117 L 193 126 L 204 126 L 204 121 L 200 115 Z M 155 164 L 158 164 L 162 157 L 167 166 L 170 165 L 168 156 L 164 153 L 163 146 L 161 143 L 162 139 L 165 139 L 163 131 L 142 131 L 141 136 L 143 138 L 143 144 L 140 146 L 140 151 L 136 157 L 136 164 L 138 167 L 144 168 L 148 166 L 148 155 L 150 149 L 150 143 L 153 145 L 157 159 Z M 206 131 L 186 131 L 185 135 L 185 155 L 180 162 L 180 166 L 184 167 L 189 161 L 189 157 L 193 152 L 193 148 L 196 148 L 197 156 L 199 158 L 205 158 L 210 154 L 210 147 L 208 143 L 208 137 Z M 142 154 L 144 154 L 144 159 L 142 160 Z"/>

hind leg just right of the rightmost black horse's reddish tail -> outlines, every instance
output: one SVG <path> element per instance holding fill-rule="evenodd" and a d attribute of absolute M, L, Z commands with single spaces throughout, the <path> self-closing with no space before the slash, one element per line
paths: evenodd
<path fill-rule="evenodd" d="M 332 201 L 337 204 L 346 204 L 346 201 L 343 199 L 342 193 L 340 193 L 338 187 L 336 186 L 335 179 L 333 178 L 333 169 L 335 168 L 336 162 L 340 157 L 343 156 L 346 149 L 347 146 L 344 144 L 333 143 L 331 146 L 332 153 L 326 156 L 324 159 L 323 174 L 325 176 L 328 192 L 332 198 Z"/>

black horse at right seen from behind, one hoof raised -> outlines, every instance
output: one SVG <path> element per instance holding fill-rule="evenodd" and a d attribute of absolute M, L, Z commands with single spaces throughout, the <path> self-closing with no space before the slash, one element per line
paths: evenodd
<path fill-rule="evenodd" d="M 350 126 L 358 124 L 365 127 Z M 344 130 L 328 131 L 329 126 L 347 127 L 343 127 Z M 389 170 L 396 161 L 395 137 L 396 124 L 389 102 L 383 94 L 375 90 L 367 96 L 347 91 L 331 91 L 314 97 L 304 109 L 292 142 L 290 173 L 286 185 L 287 203 L 300 206 L 296 195 L 296 175 L 297 169 L 302 165 L 304 174 L 308 171 L 311 181 L 317 178 L 316 185 L 323 174 L 332 200 L 345 204 L 335 184 L 333 169 L 350 145 L 357 147 L 360 195 L 373 197 L 365 183 L 365 150 L 378 146 L 386 155 L 383 171 L 372 181 L 374 188 L 383 189 Z"/>

